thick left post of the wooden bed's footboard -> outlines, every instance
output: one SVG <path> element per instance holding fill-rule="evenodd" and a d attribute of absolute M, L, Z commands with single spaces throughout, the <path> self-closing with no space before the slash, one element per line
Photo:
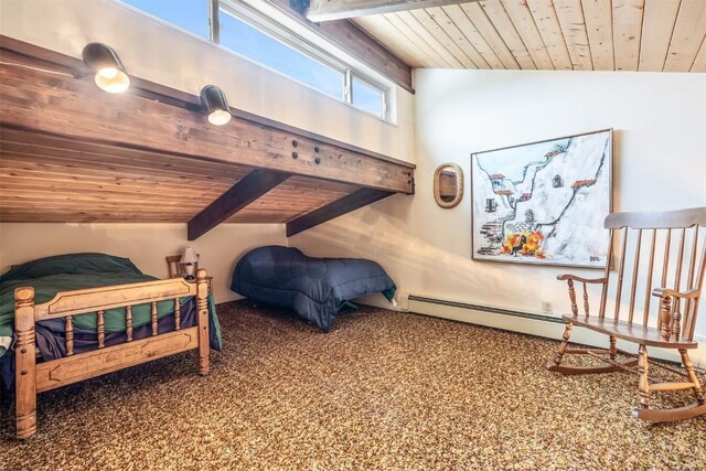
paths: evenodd
<path fill-rule="evenodd" d="M 17 437 L 36 432 L 36 372 L 34 370 L 34 288 L 14 290 Z"/>

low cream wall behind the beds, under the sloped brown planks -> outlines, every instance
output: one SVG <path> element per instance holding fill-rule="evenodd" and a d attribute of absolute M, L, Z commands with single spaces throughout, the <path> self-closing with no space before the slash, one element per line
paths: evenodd
<path fill-rule="evenodd" d="M 127 257 L 147 275 L 168 278 L 164 257 L 190 245 L 213 276 L 216 302 L 239 298 L 231 291 L 236 260 L 260 245 L 287 245 L 281 224 L 223 224 L 186 242 L 183 224 L 0 224 L 0 272 L 41 257 L 99 251 Z"/>

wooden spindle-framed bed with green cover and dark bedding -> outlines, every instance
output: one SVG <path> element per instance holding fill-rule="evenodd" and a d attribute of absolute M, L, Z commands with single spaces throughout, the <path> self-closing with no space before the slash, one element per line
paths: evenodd
<path fill-rule="evenodd" d="M 206 271 L 159 280 L 129 259 L 71 254 L 0 277 L 0 365 L 17 396 L 17 437 L 36 431 L 36 394 L 189 350 L 208 373 L 221 333 Z"/>

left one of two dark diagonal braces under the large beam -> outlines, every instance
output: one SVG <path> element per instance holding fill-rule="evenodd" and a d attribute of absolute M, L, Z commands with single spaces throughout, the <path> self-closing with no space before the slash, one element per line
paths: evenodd
<path fill-rule="evenodd" d="M 188 224 L 188 238 L 195 240 L 265 193 L 287 180 L 287 173 L 253 170 L 243 180 L 196 214 Z"/>

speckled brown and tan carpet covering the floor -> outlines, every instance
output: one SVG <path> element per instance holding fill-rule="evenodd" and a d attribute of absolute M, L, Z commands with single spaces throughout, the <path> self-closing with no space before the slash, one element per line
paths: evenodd
<path fill-rule="evenodd" d="M 631 419 L 637 377 L 546 372 L 554 341 L 372 308 L 329 334 L 218 312 L 207 377 L 190 352 L 42 394 L 26 442 L 6 399 L 0 469 L 706 469 L 706 418 Z"/>

